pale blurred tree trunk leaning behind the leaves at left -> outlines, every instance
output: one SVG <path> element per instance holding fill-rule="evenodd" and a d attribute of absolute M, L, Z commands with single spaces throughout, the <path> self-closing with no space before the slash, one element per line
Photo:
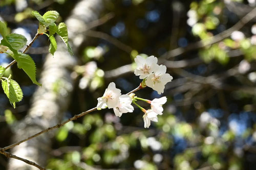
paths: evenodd
<path fill-rule="evenodd" d="M 103 8 L 102 0 L 83 0 L 77 3 L 72 14 L 65 21 L 69 31 L 70 44 L 74 54 L 80 44 L 86 40 L 84 31 L 88 23 L 96 20 Z M 39 87 L 33 95 L 32 106 L 24 120 L 14 127 L 13 142 L 22 140 L 48 127 L 61 122 L 66 111 L 70 94 L 73 90 L 71 69 L 77 64 L 74 56 L 70 56 L 61 40 L 57 40 L 58 49 L 54 54 L 47 55 L 44 68 L 40 75 Z M 62 45 L 61 45 L 62 44 Z M 53 132 L 47 132 L 28 140 L 12 149 L 12 154 L 34 161 L 45 166 L 51 150 Z M 10 159 L 8 169 L 37 169 L 16 159 Z"/>

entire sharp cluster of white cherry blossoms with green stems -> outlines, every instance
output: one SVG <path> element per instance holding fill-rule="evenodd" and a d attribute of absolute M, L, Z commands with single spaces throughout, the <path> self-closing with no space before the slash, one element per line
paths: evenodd
<path fill-rule="evenodd" d="M 159 94 L 163 93 L 166 83 L 172 81 L 173 77 L 166 74 L 166 66 L 158 65 L 157 58 L 150 56 L 148 58 L 142 58 L 137 56 L 135 58 L 137 68 L 134 73 L 136 76 L 140 76 L 146 86 L 153 88 Z M 140 85 L 141 87 L 141 85 Z M 143 87 L 141 87 L 143 88 Z M 140 107 L 136 101 L 141 100 L 151 104 L 151 109 L 144 109 Z M 138 106 L 143 112 L 144 128 L 148 128 L 151 125 L 151 121 L 158 122 L 157 115 L 162 115 L 163 107 L 167 98 L 164 96 L 160 99 L 154 99 L 153 101 L 138 98 L 134 93 L 121 94 L 121 90 L 116 88 L 116 84 L 111 82 L 106 88 L 102 97 L 98 98 L 97 109 L 113 108 L 116 116 L 121 117 L 123 113 L 133 112 L 134 107 L 132 103 Z"/>

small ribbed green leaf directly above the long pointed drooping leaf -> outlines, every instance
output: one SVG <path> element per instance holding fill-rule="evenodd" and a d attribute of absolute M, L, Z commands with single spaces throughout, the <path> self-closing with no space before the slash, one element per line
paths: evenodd
<path fill-rule="evenodd" d="M 20 34 L 15 34 L 15 33 L 7 35 L 6 39 L 8 43 L 11 45 L 11 47 L 14 48 L 14 50 L 19 50 L 20 48 L 24 47 L 24 45 L 26 45 L 27 43 L 26 37 Z"/>

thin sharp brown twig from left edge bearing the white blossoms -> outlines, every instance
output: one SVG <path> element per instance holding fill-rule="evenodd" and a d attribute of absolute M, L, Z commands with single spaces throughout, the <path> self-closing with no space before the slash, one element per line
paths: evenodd
<path fill-rule="evenodd" d="M 135 91 L 138 91 L 139 89 L 142 89 L 142 88 L 143 88 L 143 87 L 139 86 L 139 87 L 135 88 L 134 90 L 130 91 L 129 93 L 127 93 L 127 94 L 131 94 L 131 93 L 133 93 L 133 92 L 135 92 Z M 53 130 L 53 129 L 60 128 L 60 127 L 62 127 L 63 125 L 67 124 L 68 122 L 70 122 L 70 121 L 72 121 L 72 120 L 76 120 L 77 118 L 82 117 L 82 116 L 86 115 L 87 113 L 90 113 L 90 112 L 95 111 L 95 110 L 97 110 L 97 107 L 94 107 L 94 108 L 92 108 L 92 109 L 90 109 L 90 110 L 87 110 L 87 111 L 85 111 L 85 112 L 82 112 L 82 113 L 80 113 L 80 114 L 74 115 L 73 117 L 67 119 L 65 122 L 63 122 L 63 123 L 61 123 L 61 124 L 57 124 L 57 125 L 55 125 L 55 126 L 52 126 L 52 127 L 50 127 L 50 128 L 47 128 L 47 129 L 45 129 L 45 130 L 42 130 L 42 131 L 40 131 L 40 132 L 38 132 L 38 133 L 36 133 L 36 134 L 34 134 L 34 135 L 32 135 L 32 136 L 29 136 L 29 137 L 26 138 L 26 139 L 20 140 L 20 141 L 18 141 L 18 142 L 16 142 L 16 143 L 13 143 L 13 144 L 11 144 L 11 145 L 5 147 L 5 148 L 0 148 L 0 149 L 3 150 L 3 151 L 6 151 L 6 150 L 8 150 L 8 149 L 11 149 L 11 148 L 15 147 L 16 145 L 19 145 L 20 143 L 23 143 L 23 142 L 25 142 L 25 141 L 27 141 L 27 140 L 29 140 L 29 139 L 32 139 L 32 138 L 34 138 L 34 137 L 36 137 L 36 136 L 39 136 L 40 134 L 46 133 L 46 132 L 51 131 L 51 130 Z"/>

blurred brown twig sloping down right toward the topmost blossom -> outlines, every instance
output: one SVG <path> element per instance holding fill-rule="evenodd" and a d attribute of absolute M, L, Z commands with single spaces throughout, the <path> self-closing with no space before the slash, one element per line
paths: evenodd
<path fill-rule="evenodd" d="M 90 37 L 96 37 L 96 38 L 102 38 L 106 41 L 109 41 L 110 43 L 114 44 L 115 46 L 117 46 L 120 50 L 123 50 L 124 52 L 130 54 L 133 51 L 133 48 L 122 43 L 121 41 L 119 41 L 118 39 L 106 34 L 106 33 L 102 33 L 99 31 L 92 31 L 89 30 L 86 32 L 87 36 Z"/>

